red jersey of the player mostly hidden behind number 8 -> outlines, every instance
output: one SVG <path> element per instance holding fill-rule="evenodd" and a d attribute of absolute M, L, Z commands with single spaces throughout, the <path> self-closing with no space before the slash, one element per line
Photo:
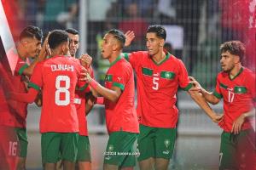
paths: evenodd
<path fill-rule="evenodd" d="M 94 78 L 93 70 L 89 68 L 90 77 Z M 86 99 L 85 94 L 90 92 L 90 86 L 86 83 L 82 88 L 77 88 L 75 91 L 75 100 L 78 118 L 79 118 L 79 135 L 88 136 L 87 119 L 86 119 Z"/>

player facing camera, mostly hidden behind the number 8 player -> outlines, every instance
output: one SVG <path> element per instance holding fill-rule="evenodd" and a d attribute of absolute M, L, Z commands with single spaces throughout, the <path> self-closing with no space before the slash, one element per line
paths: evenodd
<path fill-rule="evenodd" d="M 73 58 L 76 58 L 77 50 L 79 49 L 79 31 L 69 28 L 67 30 L 67 34 L 69 37 L 69 52 Z M 86 69 L 90 71 L 90 77 L 93 76 L 93 70 L 90 66 L 91 58 L 89 55 L 82 55 L 80 57 L 81 62 L 84 62 L 84 66 Z M 88 84 L 87 84 L 88 85 Z M 84 87 L 85 88 L 85 87 Z M 85 95 L 87 99 L 85 99 Z M 77 89 L 75 94 L 76 101 L 76 109 L 78 112 L 79 118 L 79 148 L 78 148 L 78 165 L 79 170 L 90 170 L 91 169 L 91 159 L 90 159 L 90 140 L 88 138 L 88 129 L 87 129 L 87 121 L 86 115 L 92 109 L 94 100 L 91 93 L 90 88 L 88 87 L 86 90 Z M 86 100 L 86 101 L 85 101 Z M 85 105 L 86 102 L 86 105 Z M 85 109 L 86 108 L 86 109 Z M 86 110 L 86 115 L 85 115 Z"/>

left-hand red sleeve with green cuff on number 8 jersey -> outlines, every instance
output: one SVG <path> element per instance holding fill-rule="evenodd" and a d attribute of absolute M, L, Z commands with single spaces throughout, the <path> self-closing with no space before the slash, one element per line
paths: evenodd
<path fill-rule="evenodd" d="M 42 63 L 38 63 L 35 66 L 30 82 L 28 83 L 29 88 L 34 88 L 38 91 L 41 89 L 41 87 L 43 86 L 42 69 L 43 69 Z"/>

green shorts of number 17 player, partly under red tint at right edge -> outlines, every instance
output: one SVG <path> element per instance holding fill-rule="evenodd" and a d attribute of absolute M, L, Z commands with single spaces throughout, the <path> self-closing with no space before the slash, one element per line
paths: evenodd
<path fill-rule="evenodd" d="M 253 129 L 243 130 L 239 134 L 221 134 L 219 150 L 219 169 L 253 169 L 255 146 Z"/>

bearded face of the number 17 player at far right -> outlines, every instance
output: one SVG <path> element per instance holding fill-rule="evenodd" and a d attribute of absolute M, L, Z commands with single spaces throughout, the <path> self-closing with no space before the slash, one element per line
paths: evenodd
<path fill-rule="evenodd" d="M 236 59 L 238 56 L 230 54 L 229 51 L 226 51 L 221 54 L 220 65 L 223 71 L 230 72 L 236 65 Z"/>

